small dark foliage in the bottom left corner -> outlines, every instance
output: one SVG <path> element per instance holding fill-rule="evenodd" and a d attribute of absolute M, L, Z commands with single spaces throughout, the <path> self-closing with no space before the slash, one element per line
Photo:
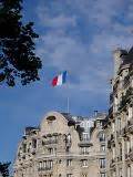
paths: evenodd
<path fill-rule="evenodd" d="M 11 163 L 0 163 L 0 174 L 2 177 L 9 176 L 9 166 Z"/>

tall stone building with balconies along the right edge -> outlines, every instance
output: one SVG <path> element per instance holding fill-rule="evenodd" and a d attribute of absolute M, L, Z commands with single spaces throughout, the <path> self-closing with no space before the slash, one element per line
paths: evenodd
<path fill-rule="evenodd" d="M 114 51 L 114 75 L 105 124 L 106 176 L 133 177 L 133 48 Z"/>

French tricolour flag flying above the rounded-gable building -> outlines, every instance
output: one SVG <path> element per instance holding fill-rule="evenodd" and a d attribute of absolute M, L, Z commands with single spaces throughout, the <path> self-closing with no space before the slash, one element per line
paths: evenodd
<path fill-rule="evenodd" d="M 66 71 L 62 72 L 58 76 L 53 77 L 52 86 L 62 85 L 66 82 Z"/>

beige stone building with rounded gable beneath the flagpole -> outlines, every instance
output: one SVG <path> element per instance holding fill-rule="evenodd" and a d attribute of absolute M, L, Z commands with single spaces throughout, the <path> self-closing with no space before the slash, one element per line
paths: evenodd
<path fill-rule="evenodd" d="M 104 114 L 83 136 L 82 118 L 50 112 L 39 127 L 27 127 L 14 160 L 14 177 L 105 177 Z M 84 124 L 83 124 L 84 125 Z M 86 137 L 86 138 L 85 138 Z"/>

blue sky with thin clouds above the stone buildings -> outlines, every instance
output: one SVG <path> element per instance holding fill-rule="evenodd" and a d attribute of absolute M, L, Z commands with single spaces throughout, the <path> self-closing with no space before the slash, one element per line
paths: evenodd
<path fill-rule="evenodd" d="M 25 126 L 38 126 L 50 111 L 92 116 L 108 112 L 113 50 L 133 43 L 133 0 L 24 0 L 23 22 L 40 34 L 35 53 L 43 63 L 40 82 L 0 85 L 0 162 L 16 158 Z M 66 84 L 52 79 L 66 70 Z"/>

